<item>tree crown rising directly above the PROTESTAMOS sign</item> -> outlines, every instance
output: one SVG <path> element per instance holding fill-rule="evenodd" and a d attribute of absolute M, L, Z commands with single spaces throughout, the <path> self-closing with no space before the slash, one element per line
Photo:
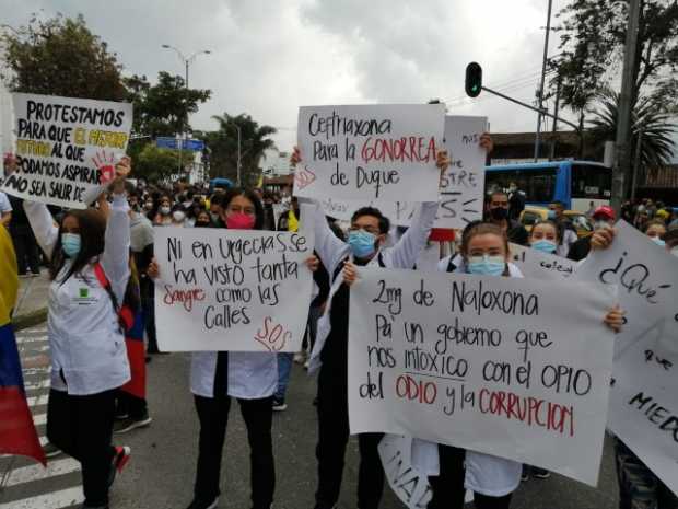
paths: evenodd
<path fill-rule="evenodd" d="M 84 18 L 35 15 L 16 32 L 3 35 L 12 92 L 122 101 L 121 66 L 108 46 L 87 28 Z"/>

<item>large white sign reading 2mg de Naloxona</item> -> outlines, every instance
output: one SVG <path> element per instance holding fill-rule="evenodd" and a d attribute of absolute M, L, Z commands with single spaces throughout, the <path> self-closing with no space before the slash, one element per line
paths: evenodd
<path fill-rule="evenodd" d="M 613 334 L 600 285 L 360 269 L 351 433 L 408 435 L 595 485 Z"/>

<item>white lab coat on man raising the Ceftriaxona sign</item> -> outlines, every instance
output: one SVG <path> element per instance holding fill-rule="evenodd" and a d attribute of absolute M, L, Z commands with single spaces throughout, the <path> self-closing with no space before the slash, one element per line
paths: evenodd
<path fill-rule="evenodd" d="M 303 207 L 303 213 L 311 212 L 309 219 L 315 232 L 315 251 L 330 277 L 332 277 L 339 264 L 350 256 L 351 247 L 335 235 L 327 224 L 325 213 L 318 204 L 304 205 Z M 381 258 L 384 266 L 388 268 L 412 268 L 417 263 L 419 254 L 426 245 L 426 240 L 435 222 L 436 212 L 437 201 L 422 204 L 412 218 L 410 228 L 400 236 L 398 242 L 393 247 L 379 250 L 379 253 L 366 266 L 378 267 Z M 302 216 L 302 220 L 306 220 L 305 216 Z M 341 273 L 331 281 L 327 305 L 325 306 L 325 313 L 318 321 L 318 333 L 308 362 L 309 374 L 315 373 L 320 368 L 320 352 L 325 347 L 325 342 L 331 328 L 329 316 L 332 298 L 342 282 L 343 275 Z"/>

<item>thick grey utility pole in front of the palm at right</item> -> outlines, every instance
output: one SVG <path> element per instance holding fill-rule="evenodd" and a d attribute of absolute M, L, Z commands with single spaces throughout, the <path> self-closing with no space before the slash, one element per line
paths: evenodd
<path fill-rule="evenodd" d="M 630 134 L 633 88 L 635 69 L 635 53 L 638 46 L 638 30 L 641 13 L 641 0 L 629 1 L 629 24 L 627 26 L 627 42 L 624 46 L 623 71 L 621 79 L 621 94 L 619 97 L 619 112 L 617 119 L 617 150 L 615 167 L 612 170 L 612 196 L 610 203 L 619 213 L 624 198 L 624 176 L 631 169 L 630 161 Z"/>

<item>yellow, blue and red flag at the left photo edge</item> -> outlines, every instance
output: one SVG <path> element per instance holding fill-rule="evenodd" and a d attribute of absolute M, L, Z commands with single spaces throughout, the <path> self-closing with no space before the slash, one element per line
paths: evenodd
<path fill-rule="evenodd" d="M 26 403 L 19 350 L 10 321 L 17 289 L 14 247 L 7 229 L 0 227 L 0 453 L 35 458 L 45 465 L 45 453 Z"/>

